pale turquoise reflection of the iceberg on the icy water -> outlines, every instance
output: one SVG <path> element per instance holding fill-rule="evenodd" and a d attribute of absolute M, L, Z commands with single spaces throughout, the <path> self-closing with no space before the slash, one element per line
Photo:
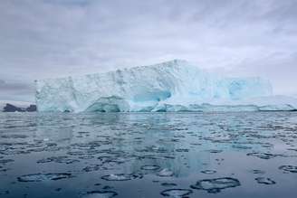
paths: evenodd
<path fill-rule="evenodd" d="M 263 144 L 240 134 L 236 114 L 224 118 L 220 114 L 55 113 L 37 114 L 36 122 L 35 139 L 61 143 L 67 146 L 67 154 L 96 156 L 98 162 L 105 162 L 107 172 L 114 163 L 119 163 L 119 173 L 157 165 L 159 169 L 148 174 L 165 169 L 175 177 L 187 177 L 211 168 L 216 153 L 259 149 Z"/>

